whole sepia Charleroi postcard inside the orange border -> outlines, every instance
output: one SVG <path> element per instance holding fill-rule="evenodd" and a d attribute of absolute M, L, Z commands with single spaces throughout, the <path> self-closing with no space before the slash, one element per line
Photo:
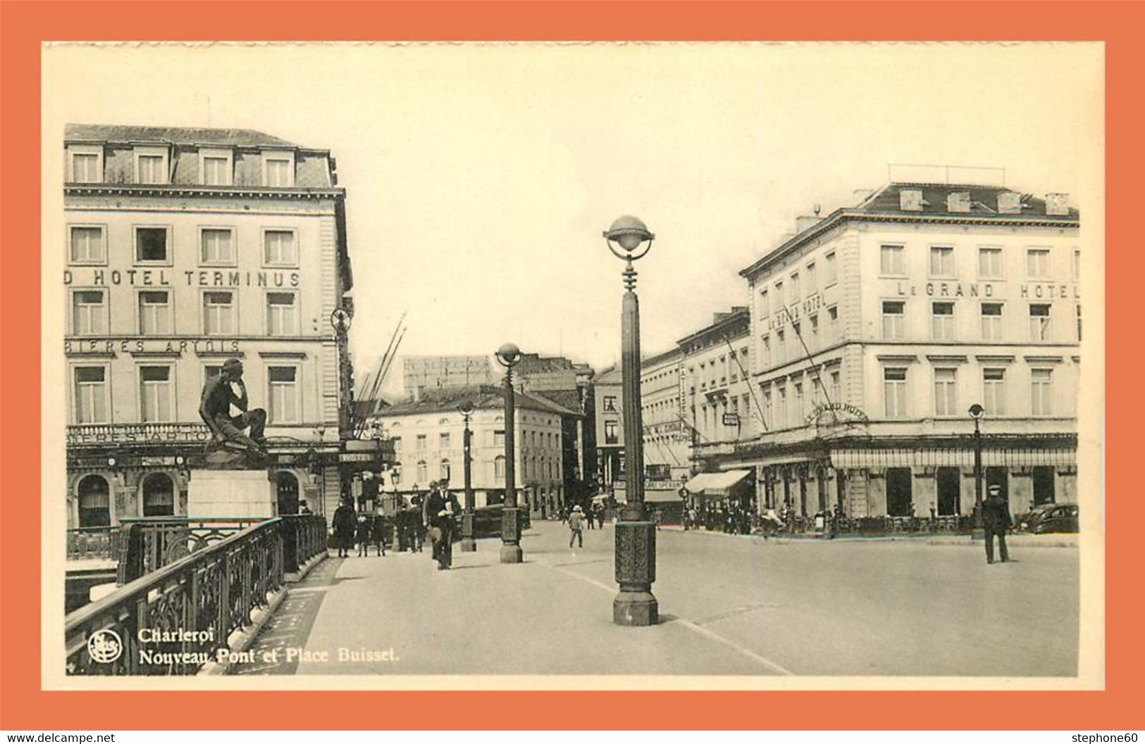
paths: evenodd
<path fill-rule="evenodd" d="M 46 688 L 1103 689 L 1103 43 L 41 62 Z"/>

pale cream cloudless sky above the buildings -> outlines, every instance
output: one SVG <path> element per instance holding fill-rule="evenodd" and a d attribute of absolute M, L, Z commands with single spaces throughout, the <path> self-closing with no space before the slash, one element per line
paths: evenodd
<path fill-rule="evenodd" d="M 747 303 L 739 271 L 796 216 L 854 204 L 892 164 L 1004 168 L 1077 204 L 1101 60 L 1081 43 L 53 45 L 45 133 L 235 127 L 329 149 L 360 381 L 403 312 L 398 357 L 513 341 L 600 370 L 621 347 L 615 217 L 656 235 L 641 341 L 666 350 Z M 386 391 L 400 383 L 395 364 Z"/>

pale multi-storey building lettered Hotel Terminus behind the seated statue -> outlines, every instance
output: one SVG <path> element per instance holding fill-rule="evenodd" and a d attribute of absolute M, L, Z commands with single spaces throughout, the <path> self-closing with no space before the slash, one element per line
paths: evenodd
<path fill-rule="evenodd" d="M 279 510 L 332 510 L 352 380 L 331 318 L 353 308 L 330 152 L 92 125 L 64 149 L 69 527 L 185 514 L 200 391 L 229 357 L 269 415 Z"/>

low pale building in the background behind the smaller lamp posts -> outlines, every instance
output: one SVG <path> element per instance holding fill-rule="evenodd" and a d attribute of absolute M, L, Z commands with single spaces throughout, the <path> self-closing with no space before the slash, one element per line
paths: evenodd
<path fill-rule="evenodd" d="M 387 474 L 387 490 L 405 497 L 425 491 L 432 481 L 464 486 L 465 419 L 469 417 L 471 478 L 476 506 L 500 504 L 505 496 L 505 393 L 495 386 L 425 391 L 395 403 L 374 418 L 393 443 L 397 468 Z M 514 474 L 518 502 L 545 513 L 564 504 L 562 418 L 576 417 L 547 398 L 515 394 Z"/>

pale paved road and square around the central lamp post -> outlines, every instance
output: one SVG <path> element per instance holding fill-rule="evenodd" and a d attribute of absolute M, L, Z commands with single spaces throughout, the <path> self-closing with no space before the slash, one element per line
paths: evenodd
<path fill-rule="evenodd" d="M 526 563 L 455 553 L 329 559 L 238 673 L 1073 675 L 1077 551 L 658 533 L 661 625 L 611 623 L 613 530 L 542 523 Z M 512 634 L 508 643 L 506 636 Z M 287 648 L 300 649 L 286 658 Z M 341 655 L 341 658 L 340 658 Z M 371 656 L 372 655 L 372 656 Z"/>

